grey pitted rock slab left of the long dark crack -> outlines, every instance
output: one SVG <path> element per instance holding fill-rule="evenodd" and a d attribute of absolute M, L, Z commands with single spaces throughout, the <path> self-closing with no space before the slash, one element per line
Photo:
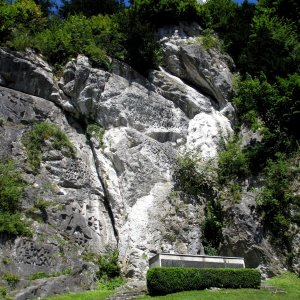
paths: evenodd
<path fill-rule="evenodd" d="M 22 291 L 16 299 L 89 289 L 95 283 L 96 267 L 86 268 L 88 264 L 81 254 L 102 253 L 108 245 L 116 247 L 116 238 L 93 153 L 82 128 L 43 98 L 0 87 L 0 99 L 0 156 L 15 159 L 28 183 L 22 209 L 25 220 L 32 222 L 33 232 L 32 238 L 0 242 L 0 256 L 9 262 L 4 264 L 1 260 L 0 276 L 10 272 L 26 279 L 41 272 L 73 272 L 72 276 L 45 279 L 38 286 L 28 281 L 32 288 Z M 22 136 L 40 121 L 59 126 L 74 145 L 76 157 L 66 157 L 62 151 L 52 149 L 51 143 L 45 143 L 36 173 L 27 165 Z M 47 205 L 40 209 L 36 201 Z M 82 272 L 76 271 L 80 269 Z"/>

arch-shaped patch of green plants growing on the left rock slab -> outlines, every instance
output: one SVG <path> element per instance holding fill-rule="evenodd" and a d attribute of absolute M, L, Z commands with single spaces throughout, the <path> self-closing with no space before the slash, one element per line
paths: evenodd
<path fill-rule="evenodd" d="M 34 171 L 40 167 L 42 148 L 46 146 L 45 141 L 50 142 L 54 149 L 64 151 L 66 156 L 75 156 L 75 148 L 67 135 L 57 125 L 41 122 L 25 133 L 22 139 L 28 156 L 28 164 Z"/>

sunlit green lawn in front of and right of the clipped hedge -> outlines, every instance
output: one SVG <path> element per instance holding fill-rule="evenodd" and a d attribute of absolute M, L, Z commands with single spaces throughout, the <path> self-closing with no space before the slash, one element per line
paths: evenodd
<path fill-rule="evenodd" d="M 298 300 L 300 299 L 300 278 L 295 274 L 286 273 L 281 276 L 264 281 L 272 289 L 221 289 L 217 291 L 190 291 L 170 294 L 160 297 L 143 296 L 138 299 L 163 300 Z M 284 290 L 285 293 L 274 293 Z"/>

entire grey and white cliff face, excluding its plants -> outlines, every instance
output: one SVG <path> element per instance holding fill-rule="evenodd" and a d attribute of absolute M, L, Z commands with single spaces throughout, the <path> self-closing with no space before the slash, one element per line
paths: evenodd
<path fill-rule="evenodd" d="M 93 287 L 95 266 L 84 255 L 107 247 L 119 250 L 122 272 L 138 278 L 158 252 L 204 253 L 205 203 L 184 202 L 172 193 L 176 156 L 193 150 L 214 157 L 220 140 L 232 133 L 234 111 L 228 102 L 232 62 L 202 49 L 196 43 L 200 32 L 196 24 L 161 29 L 164 68 L 148 79 L 118 61 L 111 72 L 95 69 L 81 55 L 56 79 L 33 52 L 0 49 L 0 156 L 13 157 L 23 172 L 28 187 L 22 210 L 34 228 L 33 238 L 0 243 L 0 256 L 12 261 L 0 262 L 0 275 L 18 272 L 27 280 L 17 299 L 44 297 L 54 285 L 55 293 Z M 41 121 L 65 132 L 76 155 L 67 157 L 47 141 L 34 172 L 22 137 Z M 103 137 L 86 137 L 91 123 L 105 129 Z M 35 204 L 40 198 L 49 203 L 41 211 Z M 246 263 L 255 256 L 256 267 L 268 262 L 259 251 L 268 258 L 273 252 L 255 248 L 261 237 L 249 205 L 233 208 L 234 226 L 244 236 L 236 239 L 224 230 L 223 250 L 246 253 Z M 38 272 L 61 276 L 26 279 Z M 87 273 L 88 280 L 78 284 Z"/>

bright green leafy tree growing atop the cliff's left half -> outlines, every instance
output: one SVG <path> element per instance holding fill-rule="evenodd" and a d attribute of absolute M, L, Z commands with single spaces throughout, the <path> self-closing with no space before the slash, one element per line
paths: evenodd
<path fill-rule="evenodd" d="M 97 66 L 109 68 L 109 57 L 123 59 L 123 36 L 109 16 L 70 16 L 53 19 L 49 28 L 34 39 L 37 48 L 52 64 L 64 63 L 77 54 L 85 54 Z"/>

